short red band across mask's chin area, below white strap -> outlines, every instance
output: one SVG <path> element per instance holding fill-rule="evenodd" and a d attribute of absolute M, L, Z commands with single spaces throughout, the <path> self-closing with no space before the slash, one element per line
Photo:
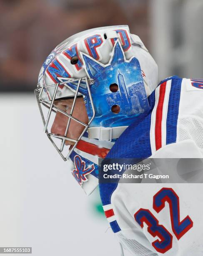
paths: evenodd
<path fill-rule="evenodd" d="M 108 148 L 100 148 L 95 144 L 82 140 L 78 142 L 76 148 L 93 156 L 97 155 L 100 158 L 105 158 L 108 152 L 110 151 L 110 149 Z"/>

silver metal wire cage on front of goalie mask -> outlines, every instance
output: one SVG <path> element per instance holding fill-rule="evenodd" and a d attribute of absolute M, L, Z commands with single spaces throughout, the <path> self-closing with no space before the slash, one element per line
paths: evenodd
<path fill-rule="evenodd" d="M 80 141 L 80 139 L 82 138 L 84 133 L 87 131 L 87 129 L 88 129 L 90 123 L 92 122 L 93 118 L 95 117 L 95 108 L 94 108 L 94 105 L 93 105 L 93 99 L 92 99 L 92 95 L 91 95 L 91 92 L 90 92 L 90 84 L 93 82 L 92 80 L 93 79 L 88 79 L 88 77 L 82 77 L 80 79 L 67 78 L 66 82 L 61 82 L 61 83 L 57 83 L 57 84 L 50 84 L 50 85 L 46 85 L 46 86 L 43 85 L 42 87 L 40 87 L 40 85 L 38 84 L 38 87 L 35 89 L 35 96 L 36 96 L 36 99 L 38 101 L 40 114 L 41 114 L 43 124 L 44 124 L 44 132 L 47 134 L 51 143 L 56 148 L 56 150 L 58 151 L 58 153 L 60 154 L 60 156 L 63 158 L 64 161 L 69 159 L 70 154 L 73 152 L 74 148 L 77 146 L 78 141 Z M 75 95 L 74 95 L 74 98 L 73 98 L 73 105 L 70 108 L 70 114 L 64 112 L 63 110 L 61 110 L 60 108 L 58 108 L 54 105 L 54 101 L 56 100 L 56 96 L 57 96 L 59 86 L 60 85 L 65 85 L 67 83 L 77 84 L 75 86 L 75 90 L 72 88 L 72 90 L 75 91 Z M 83 83 L 83 85 L 86 84 L 86 94 L 87 94 L 86 96 L 89 97 L 89 102 L 90 102 L 91 108 L 92 108 L 92 116 L 89 117 L 88 124 L 83 123 L 82 121 L 78 120 L 77 118 L 75 118 L 73 116 L 73 110 L 74 110 L 74 107 L 75 107 L 75 102 L 76 102 L 76 99 L 78 97 L 78 93 L 80 91 L 80 87 L 81 87 L 82 83 Z M 53 91 L 53 97 L 51 97 L 51 99 L 49 99 L 48 101 L 43 100 L 43 98 L 42 98 L 43 91 L 48 91 L 51 87 L 52 87 L 52 89 L 55 87 L 54 91 Z M 42 106 L 48 109 L 48 113 L 47 113 L 46 116 L 44 115 L 44 111 L 43 111 Z M 63 115 L 65 115 L 66 117 L 68 117 L 68 123 L 67 123 L 65 133 L 64 133 L 63 136 L 59 135 L 59 134 L 51 133 L 51 132 L 49 132 L 49 129 L 48 129 L 49 124 L 50 124 L 51 114 L 52 113 L 56 114 L 57 112 L 60 112 Z M 81 125 L 84 126 L 84 129 L 83 129 L 82 133 L 80 134 L 80 136 L 78 137 L 78 139 L 72 139 L 72 138 L 67 138 L 66 137 L 67 133 L 68 133 L 68 129 L 70 127 L 70 120 L 75 120 L 76 122 L 78 122 L 78 123 L 80 123 Z M 53 138 L 59 139 L 61 141 L 60 145 L 57 145 L 57 143 L 53 140 Z M 70 151 L 66 155 L 64 153 L 65 141 L 75 142 L 73 147 L 70 149 Z"/>

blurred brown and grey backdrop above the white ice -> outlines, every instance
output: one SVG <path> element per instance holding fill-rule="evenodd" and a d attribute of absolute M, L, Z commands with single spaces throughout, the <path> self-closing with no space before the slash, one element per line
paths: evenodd
<path fill-rule="evenodd" d="M 150 50 L 160 79 L 200 78 L 202 0 L 0 0 L 2 91 L 33 91 L 50 51 L 94 27 L 128 24 Z"/>

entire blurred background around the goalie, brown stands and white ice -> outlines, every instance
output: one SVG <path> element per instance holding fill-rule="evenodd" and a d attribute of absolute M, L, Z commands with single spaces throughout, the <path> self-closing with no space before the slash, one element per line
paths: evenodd
<path fill-rule="evenodd" d="M 202 0 L 0 0 L 0 246 L 33 246 L 36 256 L 120 255 L 98 191 L 84 195 L 43 134 L 33 94 L 40 67 L 75 33 L 128 24 L 160 80 L 203 78 L 202 13 Z"/>

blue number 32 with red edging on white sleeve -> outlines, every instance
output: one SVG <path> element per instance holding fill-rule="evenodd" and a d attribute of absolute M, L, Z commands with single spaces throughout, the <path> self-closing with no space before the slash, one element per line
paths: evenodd
<path fill-rule="evenodd" d="M 174 235 L 179 240 L 193 226 L 193 221 L 186 216 L 180 221 L 179 197 L 172 188 L 162 188 L 153 197 L 153 209 L 158 213 L 165 207 L 168 202 L 170 209 L 170 220 Z M 148 232 L 153 236 L 158 236 L 160 240 L 155 240 L 152 246 L 156 251 L 165 253 L 172 248 L 173 236 L 163 226 L 160 225 L 155 216 L 148 209 L 141 208 L 135 215 L 135 220 L 143 228 L 147 224 Z"/>

